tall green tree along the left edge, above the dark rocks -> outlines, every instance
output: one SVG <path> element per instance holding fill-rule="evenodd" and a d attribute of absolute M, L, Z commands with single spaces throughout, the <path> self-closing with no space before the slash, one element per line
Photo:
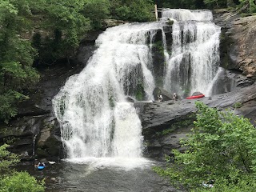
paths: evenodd
<path fill-rule="evenodd" d="M 38 81 L 32 64 L 36 51 L 23 38 L 30 32 L 29 2 L 0 2 L 0 120 L 6 122 L 17 114 L 17 103 L 27 97 L 23 90 Z"/>

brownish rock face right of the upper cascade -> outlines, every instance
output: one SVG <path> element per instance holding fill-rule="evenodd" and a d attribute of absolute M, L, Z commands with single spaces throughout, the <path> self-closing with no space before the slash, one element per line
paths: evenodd
<path fill-rule="evenodd" d="M 214 22 L 222 27 L 222 66 L 240 70 L 256 79 L 256 16 L 242 18 L 226 10 L 214 13 Z"/>

